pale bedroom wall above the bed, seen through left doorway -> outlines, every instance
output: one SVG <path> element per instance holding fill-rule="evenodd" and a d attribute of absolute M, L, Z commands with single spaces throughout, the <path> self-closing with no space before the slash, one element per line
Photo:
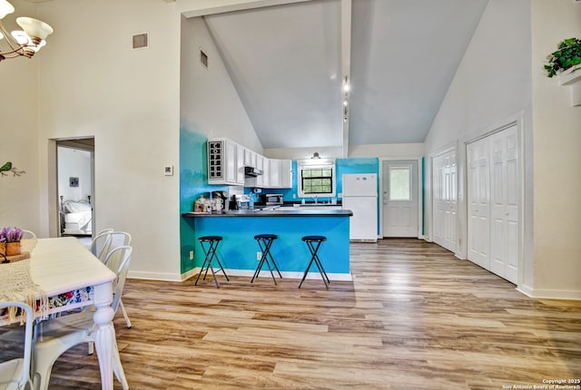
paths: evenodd
<path fill-rule="evenodd" d="M 79 186 L 71 187 L 70 178 L 78 178 Z M 64 200 L 88 200 L 92 195 L 91 152 L 58 147 L 58 194 Z"/>

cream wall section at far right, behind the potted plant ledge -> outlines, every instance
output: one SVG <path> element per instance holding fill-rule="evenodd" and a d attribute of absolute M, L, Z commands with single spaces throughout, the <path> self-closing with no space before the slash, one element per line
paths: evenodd
<path fill-rule="evenodd" d="M 537 297 L 581 299 L 581 107 L 569 87 L 543 73 L 547 54 L 565 38 L 581 38 L 581 4 L 533 0 L 535 163 L 534 279 Z"/>

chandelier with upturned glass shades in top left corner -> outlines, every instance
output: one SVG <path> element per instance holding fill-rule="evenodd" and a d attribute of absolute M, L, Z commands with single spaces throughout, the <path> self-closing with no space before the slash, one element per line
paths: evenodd
<path fill-rule="evenodd" d="M 2 19 L 13 12 L 13 5 L 0 0 L 0 61 L 18 56 L 32 57 L 46 44 L 46 36 L 53 34 L 53 27 L 32 17 L 17 17 L 16 23 L 22 30 L 8 34 Z"/>

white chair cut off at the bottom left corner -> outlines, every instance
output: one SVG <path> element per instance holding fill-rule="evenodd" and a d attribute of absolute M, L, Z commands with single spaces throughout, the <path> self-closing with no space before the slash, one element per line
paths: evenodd
<path fill-rule="evenodd" d="M 24 336 L 24 352 L 23 357 L 0 363 L 0 390 L 24 389 L 27 385 L 29 386 L 28 388 L 32 389 L 30 361 L 33 343 L 33 309 L 23 302 L 0 302 L 0 312 L 8 307 L 17 307 L 24 312 L 23 315 L 26 321 L 24 335 L 19 332 L 21 334 L 19 341 Z"/>

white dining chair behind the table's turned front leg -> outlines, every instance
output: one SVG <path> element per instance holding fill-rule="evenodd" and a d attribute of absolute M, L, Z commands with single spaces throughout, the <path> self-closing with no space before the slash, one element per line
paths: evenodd
<path fill-rule="evenodd" d="M 125 285 L 125 278 L 131 262 L 133 249 L 122 246 L 112 249 L 105 262 L 117 274 L 113 285 L 113 312 L 117 311 Z M 78 344 L 94 343 L 94 313 L 82 311 L 63 317 L 49 319 L 40 324 L 33 351 L 34 385 L 37 389 L 46 390 L 50 382 L 54 361 L 64 352 Z M 116 340 L 113 342 L 113 373 L 121 383 L 123 390 L 129 388 Z"/>

